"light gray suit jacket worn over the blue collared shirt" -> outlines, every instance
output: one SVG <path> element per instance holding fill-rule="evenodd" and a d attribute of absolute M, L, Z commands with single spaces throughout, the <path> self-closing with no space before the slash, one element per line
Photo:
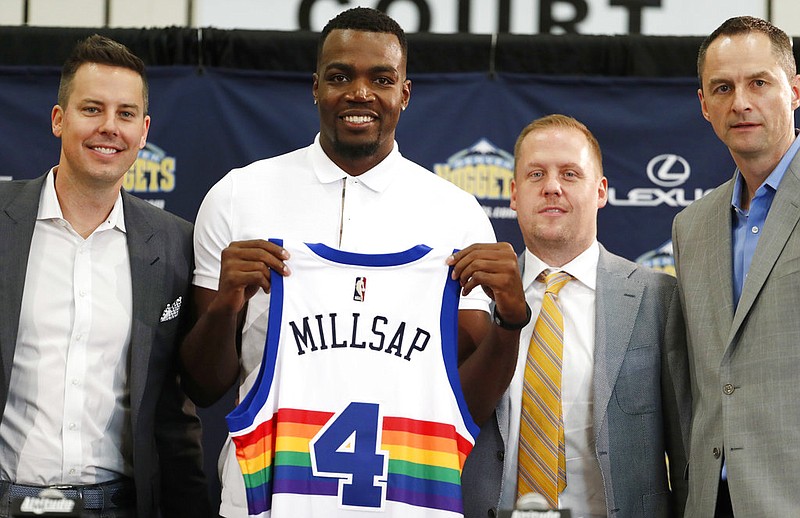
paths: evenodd
<path fill-rule="evenodd" d="M 673 224 L 692 367 L 687 515 L 711 516 L 723 458 L 737 516 L 800 512 L 800 154 L 775 194 L 737 307 L 733 180 Z"/>

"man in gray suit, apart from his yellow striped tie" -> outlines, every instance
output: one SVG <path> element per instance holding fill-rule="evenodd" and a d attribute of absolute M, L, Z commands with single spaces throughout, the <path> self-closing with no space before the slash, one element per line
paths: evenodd
<path fill-rule="evenodd" d="M 538 119 L 520 134 L 514 157 L 511 207 L 525 241 L 520 266 L 534 314 L 544 296 L 540 272 L 572 276 L 557 295 L 566 445 L 566 488 L 557 503 L 576 517 L 679 516 L 691 402 L 675 279 L 597 242 L 608 183 L 586 126 L 563 115 Z M 518 496 L 523 373 L 533 327 L 532 321 L 520 334 L 514 379 L 467 458 L 468 518 L 511 509 Z"/>

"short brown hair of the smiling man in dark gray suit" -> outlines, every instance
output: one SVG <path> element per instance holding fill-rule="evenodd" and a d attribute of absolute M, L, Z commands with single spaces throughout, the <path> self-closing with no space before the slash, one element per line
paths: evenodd
<path fill-rule="evenodd" d="M 72 79 L 75 73 L 86 63 L 97 63 L 112 67 L 133 70 L 142 78 L 142 96 L 144 98 L 144 114 L 147 115 L 147 75 L 144 62 L 122 43 L 118 43 L 105 36 L 95 34 L 78 42 L 72 50 L 64 66 L 61 68 L 61 83 L 58 86 L 58 104 L 65 108 L 72 90 Z"/>

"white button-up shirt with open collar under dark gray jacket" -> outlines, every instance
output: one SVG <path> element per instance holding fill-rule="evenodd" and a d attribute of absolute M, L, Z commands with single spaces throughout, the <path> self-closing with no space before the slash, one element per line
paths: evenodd
<path fill-rule="evenodd" d="M 0 479 L 94 484 L 133 473 L 131 312 L 122 197 L 84 240 L 63 218 L 51 170 L 0 423 Z"/>

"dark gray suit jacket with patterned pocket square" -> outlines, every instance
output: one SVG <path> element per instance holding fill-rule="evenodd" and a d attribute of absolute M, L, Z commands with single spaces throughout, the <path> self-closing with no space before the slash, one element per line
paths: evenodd
<path fill-rule="evenodd" d="M 45 176 L 0 182 L 0 420 L 8 397 L 25 269 Z M 131 262 L 130 405 L 139 516 L 208 516 L 200 422 L 178 383 L 177 350 L 191 325 L 188 222 L 122 193 Z M 160 322 L 183 297 L 178 318 Z"/>

